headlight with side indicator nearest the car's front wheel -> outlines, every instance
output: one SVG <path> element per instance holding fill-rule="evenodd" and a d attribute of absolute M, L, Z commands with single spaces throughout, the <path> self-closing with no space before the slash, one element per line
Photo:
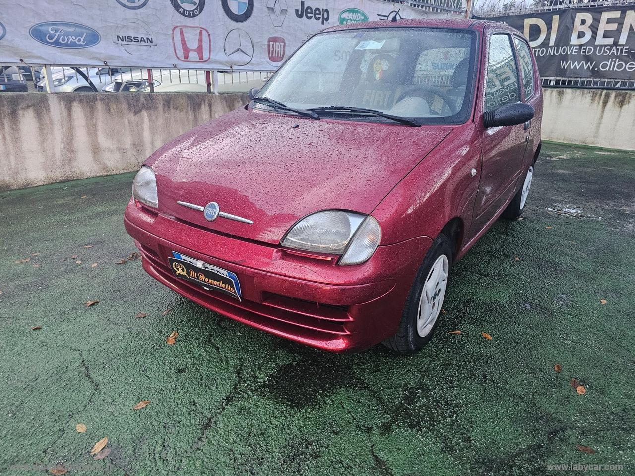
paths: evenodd
<path fill-rule="evenodd" d="M 381 237 L 379 223 L 370 215 L 325 210 L 298 221 L 281 244 L 285 248 L 342 255 L 340 265 L 359 265 L 375 253 Z"/>

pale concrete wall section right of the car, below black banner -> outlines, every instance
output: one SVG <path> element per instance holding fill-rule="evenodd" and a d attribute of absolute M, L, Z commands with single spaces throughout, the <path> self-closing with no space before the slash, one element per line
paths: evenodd
<path fill-rule="evenodd" d="M 542 138 L 635 150 L 635 91 L 544 88 Z"/>

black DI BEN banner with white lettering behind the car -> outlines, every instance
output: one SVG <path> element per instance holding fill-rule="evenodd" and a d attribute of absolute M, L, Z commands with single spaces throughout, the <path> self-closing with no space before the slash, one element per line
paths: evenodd
<path fill-rule="evenodd" d="M 483 18 L 507 23 L 530 41 L 542 77 L 635 79 L 635 7 Z"/>

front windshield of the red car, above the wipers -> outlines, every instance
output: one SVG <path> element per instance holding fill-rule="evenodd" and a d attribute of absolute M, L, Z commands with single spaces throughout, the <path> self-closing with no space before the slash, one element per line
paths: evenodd
<path fill-rule="evenodd" d="M 471 30 L 391 27 L 326 32 L 309 39 L 257 97 L 294 109 L 337 105 L 379 110 L 417 119 L 418 124 L 460 124 L 471 109 L 475 43 Z M 252 104 L 275 107 L 264 101 Z M 351 114 L 356 113 L 349 111 L 347 118 Z M 363 120 L 386 119 L 366 115 Z"/>

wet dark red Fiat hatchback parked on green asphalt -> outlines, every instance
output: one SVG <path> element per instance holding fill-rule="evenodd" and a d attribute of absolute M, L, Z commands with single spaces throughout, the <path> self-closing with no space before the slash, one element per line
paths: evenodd
<path fill-rule="evenodd" d="M 152 154 L 126 230 L 152 277 L 236 321 L 415 352 L 452 265 L 522 213 L 541 118 L 531 49 L 501 23 L 330 28 Z"/>

